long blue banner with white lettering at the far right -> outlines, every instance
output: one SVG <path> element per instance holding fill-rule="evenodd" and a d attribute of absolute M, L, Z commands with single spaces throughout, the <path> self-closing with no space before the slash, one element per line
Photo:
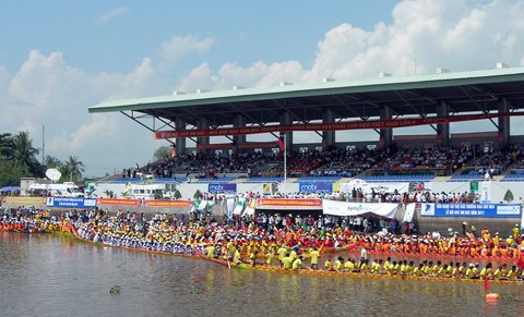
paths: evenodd
<path fill-rule="evenodd" d="M 422 217 L 485 217 L 516 218 L 521 217 L 519 204 L 421 204 Z"/>

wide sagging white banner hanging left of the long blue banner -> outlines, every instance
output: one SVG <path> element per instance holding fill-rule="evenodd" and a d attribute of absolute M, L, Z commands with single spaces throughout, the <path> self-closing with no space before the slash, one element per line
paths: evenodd
<path fill-rule="evenodd" d="M 323 214 L 333 216 L 357 216 L 371 212 L 392 219 L 396 216 L 398 205 L 392 203 L 346 203 L 322 199 L 322 209 Z"/>

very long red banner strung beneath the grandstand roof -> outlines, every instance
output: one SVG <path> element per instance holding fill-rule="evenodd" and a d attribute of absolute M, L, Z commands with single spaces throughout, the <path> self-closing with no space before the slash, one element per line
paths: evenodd
<path fill-rule="evenodd" d="M 332 122 L 318 124 L 285 124 L 285 125 L 265 125 L 265 126 L 243 126 L 243 127 L 218 127 L 218 129 L 196 129 L 186 131 L 156 131 L 155 138 L 176 138 L 176 137 L 199 137 L 199 136 L 225 136 L 225 135 L 245 135 L 258 133 L 275 133 L 287 131 L 342 131 L 342 130 L 365 130 L 365 129 L 395 129 L 427 124 L 452 123 L 461 121 L 486 120 L 500 117 L 524 115 L 524 112 L 504 112 L 486 114 L 466 114 L 453 117 L 432 117 L 432 118 L 413 118 L 413 119 L 386 119 L 368 121 Z"/>

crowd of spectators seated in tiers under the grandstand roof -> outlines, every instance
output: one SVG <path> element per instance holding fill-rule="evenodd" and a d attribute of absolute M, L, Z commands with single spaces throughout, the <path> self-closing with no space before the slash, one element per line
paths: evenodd
<path fill-rule="evenodd" d="M 359 174 L 416 174 L 451 175 L 462 171 L 497 175 L 514 166 L 524 166 L 522 144 L 507 149 L 490 147 L 404 146 L 382 150 L 378 148 L 330 148 L 325 150 L 288 151 L 287 176 L 356 176 Z M 284 176 L 283 154 L 278 151 L 229 151 L 180 154 L 166 157 L 143 167 L 124 169 L 122 178 L 151 175 L 175 178 L 186 174 L 196 179 L 214 180 L 228 173 L 243 173 L 248 178 Z"/>

